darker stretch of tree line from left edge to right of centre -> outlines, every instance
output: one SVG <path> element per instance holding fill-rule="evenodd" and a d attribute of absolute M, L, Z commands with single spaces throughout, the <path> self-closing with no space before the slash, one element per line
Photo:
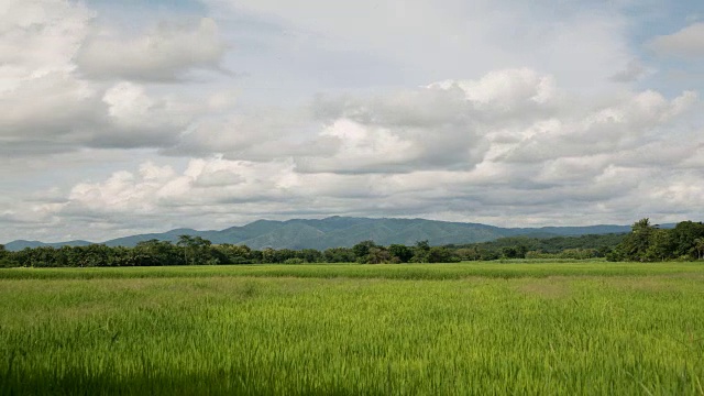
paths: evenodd
<path fill-rule="evenodd" d="M 302 263 L 440 263 L 459 261 L 449 249 L 430 246 L 427 241 L 415 246 L 377 245 L 363 241 L 352 248 L 263 249 L 246 245 L 212 244 L 191 235 L 180 235 L 177 243 L 150 240 L 134 248 L 91 244 L 87 246 L 40 246 L 10 252 L 0 245 L 0 267 L 100 267 L 222 264 L 302 264 Z"/>

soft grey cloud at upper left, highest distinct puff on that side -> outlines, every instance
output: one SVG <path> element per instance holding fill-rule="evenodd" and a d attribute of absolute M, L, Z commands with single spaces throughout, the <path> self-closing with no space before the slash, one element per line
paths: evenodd
<path fill-rule="evenodd" d="M 162 22 L 141 36 L 99 32 L 76 55 L 90 78 L 175 81 L 193 69 L 222 70 L 227 45 L 209 18 L 196 23 Z"/>

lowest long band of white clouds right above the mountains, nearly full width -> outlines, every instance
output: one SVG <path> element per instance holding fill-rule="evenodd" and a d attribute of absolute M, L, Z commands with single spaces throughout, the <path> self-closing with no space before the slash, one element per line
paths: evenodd
<path fill-rule="evenodd" d="M 481 168 L 302 174 L 285 161 L 222 158 L 194 160 L 183 170 L 144 163 L 134 172 L 117 172 L 105 180 L 78 184 L 64 202 L 35 206 L 28 218 L 6 221 L 92 227 L 90 235 L 96 239 L 112 235 L 116 230 L 154 229 L 154 222 L 164 229 L 202 229 L 257 218 L 341 213 L 421 216 L 501 226 L 569 223 L 574 217 L 580 223 L 628 223 L 656 209 L 660 216 L 672 217 L 681 216 L 682 208 L 704 204 L 695 172 L 678 175 L 657 168 L 604 165 L 608 158 L 588 160 L 561 158 L 559 164 L 527 167 L 498 164 L 491 174 Z M 516 183 L 519 178 L 527 180 Z M 569 211 L 569 219 L 557 215 L 561 211 Z M 508 212 L 512 216 L 506 216 Z M 95 229 L 96 223 L 105 229 Z M 86 231 L 82 235 L 86 238 Z"/>

